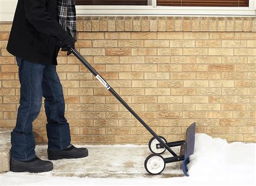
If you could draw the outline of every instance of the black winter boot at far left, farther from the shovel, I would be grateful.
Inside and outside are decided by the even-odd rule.
[[[36,157],[28,161],[11,160],[10,167],[13,172],[43,173],[52,170],[53,164]]]

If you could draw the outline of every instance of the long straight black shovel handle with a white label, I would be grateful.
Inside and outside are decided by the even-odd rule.
[[[72,53],[80,60],[80,62],[83,63],[83,65],[90,70],[90,72],[100,81],[100,83],[102,83],[104,85],[104,87],[109,90],[112,95],[114,97],[116,97],[118,99],[118,101],[120,103],[122,103],[122,105],[125,106],[125,108],[153,135],[154,138],[156,138],[158,140],[158,142],[163,145],[167,151],[169,151],[173,156],[177,156],[176,153],[174,153],[172,151],[172,149],[163,141],[161,140],[161,138],[158,137],[158,135],[149,127],[149,125],[147,125],[145,123],[144,120],[142,120],[142,118],[140,118],[136,112],[134,112],[129,105],[127,105],[127,103],[117,94],[116,91],[114,91],[114,89],[112,89],[112,87],[110,87],[109,84],[107,84],[107,82],[104,80],[104,78],[102,78],[97,71],[90,65],[89,62],[87,62],[84,57],[75,49],[75,48],[71,48]]]

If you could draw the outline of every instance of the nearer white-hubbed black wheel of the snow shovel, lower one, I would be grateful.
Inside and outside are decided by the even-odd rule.
[[[147,156],[144,167],[149,174],[160,174],[165,168],[163,156],[159,154],[151,154]]]

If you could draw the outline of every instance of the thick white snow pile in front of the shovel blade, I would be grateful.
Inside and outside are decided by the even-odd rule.
[[[196,134],[194,154],[190,156],[187,166],[188,173],[191,178],[255,184],[255,147],[255,144],[228,144],[224,139]]]

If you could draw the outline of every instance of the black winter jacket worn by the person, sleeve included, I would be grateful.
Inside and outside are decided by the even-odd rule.
[[[18,0],[7,50],[24,60],[57,65],[57,41],[68,37],[57,20],[57,0]]]

